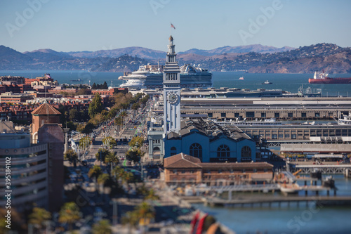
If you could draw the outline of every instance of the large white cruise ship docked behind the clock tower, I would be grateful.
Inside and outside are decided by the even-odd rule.
[[[126,82],[121,88],[129,89],[162,89],[163,72],[160,69],[150,70],[150,65],[140,66],[139,69],[122,79]],[[155,66],[156,67],[156,66]],[[212,73],[201,67],[185,64],[180,67],[180,87],[182,88],[209,88],[212,87]]]

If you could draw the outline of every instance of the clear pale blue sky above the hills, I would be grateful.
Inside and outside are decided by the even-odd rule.
[[[346,47],[350,9],[348,0],[1,0],[0,44],[20,52],[166,51],[172,22],[176,51],[320,42]]]

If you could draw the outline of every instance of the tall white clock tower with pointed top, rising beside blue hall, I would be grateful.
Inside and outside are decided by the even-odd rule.
[[[173,37],[169,37],[164,66],[164,134],[180,131],[180,70]]]

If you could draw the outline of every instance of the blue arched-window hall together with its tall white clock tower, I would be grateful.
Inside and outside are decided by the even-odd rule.
[[[150,157],[171,157],[183,152],[201,162],[256,161],[255,141],[236,126],[180,118],[180,69],[172,36],[168,41],[163,84],[164,127],[149,131]]]

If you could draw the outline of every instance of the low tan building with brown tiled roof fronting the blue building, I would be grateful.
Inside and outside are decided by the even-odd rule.
[[[180,153],[164,159],[164,178],[167,184],[230,186],[270,181],[273,177],[272,168],[273,165],[267,162],[204,163],[197,157]]]

